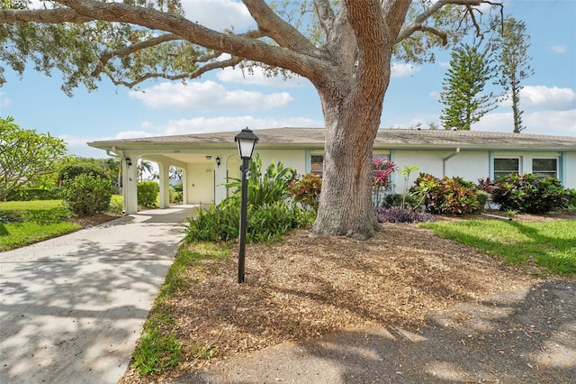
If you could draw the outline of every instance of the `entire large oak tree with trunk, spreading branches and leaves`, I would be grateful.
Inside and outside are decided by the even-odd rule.
[[[434,60],[435,46],[482,32],[487,0],[243,0],[251,28],[214,31],[176,0],[57,0],[28,9],[3,0],[0,59],[23,73],[28,62],[59,69],[63,89],[97,86],[103,76],[137,87],[150,78],[198,78],[211,69],[260,66],[298,74],[316,87],[325,119],[323,190],[312,230],[366,239],[372,207],[372,149],[392,57]],[[481,7],[481,5],[484,5]],[[4,78],[0,78],[0,81]]]

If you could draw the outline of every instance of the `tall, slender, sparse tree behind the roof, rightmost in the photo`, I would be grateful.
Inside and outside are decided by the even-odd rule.
[[[528,56],[530,36],[526,31],[526,24],[513,17],[507,17],[502,26],[502,35],[496,40],[499,49],[498,72],[500,77],[497,85],[504,87],[504,100],[512,99],[512,112],[514,114],[514,133],[521,133],[526,129],[522,123],[520,110],[520,91],[522,80],[534,75],[534,69],[529,65],[532,59]]]

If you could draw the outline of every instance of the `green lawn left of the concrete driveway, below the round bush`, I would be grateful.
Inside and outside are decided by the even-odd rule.
[[[0,203],[0,251],[9,251],[80,229],[61,200]]]

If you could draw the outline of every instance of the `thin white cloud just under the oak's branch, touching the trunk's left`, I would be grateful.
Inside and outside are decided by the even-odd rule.
[[[298,75],[292,75],[292,78],[284,80],[282,75],[272,78],[266,77],[264,70],[261,68],[253,69],[253,73],[248,73],[247,69],[223,69],[216,73],[216,77],[224,83],[238,83],[253,86],[267,87],[300,87],[311,86],[310,80]]]

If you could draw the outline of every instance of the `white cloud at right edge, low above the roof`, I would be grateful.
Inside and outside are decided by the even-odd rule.
[[[522,108],[539,108],[562,111],[574,108],[576,92],[571,88],[527,86],[520,91],[520,103]],[[511,105],[506,100],[501,105]]]

